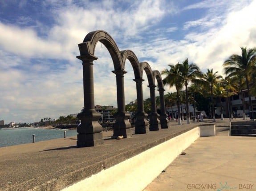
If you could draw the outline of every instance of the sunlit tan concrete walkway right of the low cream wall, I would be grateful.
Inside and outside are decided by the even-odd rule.
[[[199,137],[144,191],[256,191],[256,137],[223,130]]]

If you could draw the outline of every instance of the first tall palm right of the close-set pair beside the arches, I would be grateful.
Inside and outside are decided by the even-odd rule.
[[[211,113],[212,113],[212,117],[213,117],[213,121],[215,122],[215,109],[214,109],[214,102],[213,102],[213,85],[215,85],[221,78],[221,75],[217,75],[218,71],[213,73],[212,69],[209,70],[207,69],[207,72],[205,74],[203,74],[203,86],[204,88],[210,89],[211,92]]]

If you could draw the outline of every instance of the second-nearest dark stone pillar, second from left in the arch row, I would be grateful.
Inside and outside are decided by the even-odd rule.
[[[118,112],[113,116],[116,122],[113,126],[114,132],[112,139],[116,139],[118,136],[127,138],[131,136],[131,124],[128,120],[130,118],[130,114],[126,114],[125,111],[124,74],[127,72],[125,70],[114,70],[112,72],[116,74],[118,101]]]

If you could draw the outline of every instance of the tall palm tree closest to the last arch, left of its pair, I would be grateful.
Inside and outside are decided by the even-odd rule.
[[[163,78],[163,84],[168,85],[170,88],[175,86],[177,94],[177,108],[178,108],[178,124],[181,125],[180,119],[180,103],[179,103],[179,91],[182,89],[184,84],[184,79],[182,78],[182,73],[179,69],[179,62],[176,65],[168,64],[170,69],[165,69],[161,72],[162,75],[166,77]]]

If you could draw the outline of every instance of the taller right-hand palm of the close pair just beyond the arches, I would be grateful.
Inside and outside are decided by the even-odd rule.
[[[193,82],[196,78],[202,78],[202,72],[200,71],[199,67],[195,63],[188,63],[188,58],[179,64],[182,76],[184,78],[185,84],[185,92],[186,92],[186,115],[187,115],[187,124],[190,124],[189,119],[189,107],[188,107],[188,93],[187,87],[189,82]]]

